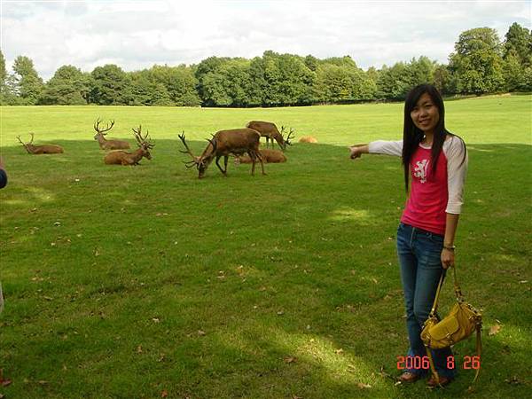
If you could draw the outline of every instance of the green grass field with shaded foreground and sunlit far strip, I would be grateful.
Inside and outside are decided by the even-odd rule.
[[[400,160],[352,161],[346,148],[399,139],[401,104],[0,108],[0,368],[12,379],[0,395],[530,397],[531,99],[446,103],[469,150],[458,278],[483,311],[484,348],[473,388],[462,370],[472,338],[455,347],[458,379],[435,392],[393,379],[407,348]],[[104,165],[98,117],[132,144],[142,123],[153,160]],[[268,176],[231,163],[224,178],[213,164],[199,180],[184,168],[178,133],[200,153],[210,133],[252,119],[319,144],[294,144]],[[28,155],[15,137],[29,132],[65,153]],[[448,281],[442,313],[451,291]]]

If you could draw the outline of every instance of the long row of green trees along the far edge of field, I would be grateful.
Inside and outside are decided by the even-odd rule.
[[[349,56],[317,59],[265,51],[254,59],[209,57],[191,66],[125,72],[97,66],[90,73],[60,66],[48,82],[33,61],[6,71],[0,51],[1,105],[306,106],[402,100],[412,86],[432,82],[443,95],[532,91],[532,31],[513,23],[501,42],[495,29],[458,37],[447,65],[420,56],[394,66],[356,66]]]

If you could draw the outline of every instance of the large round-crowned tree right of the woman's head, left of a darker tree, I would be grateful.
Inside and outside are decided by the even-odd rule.
[[[476,27],[460,34],[450,54],[450,70],[457,90],[482,94],[502,90],[505,85],[501,44],[495,29]]]

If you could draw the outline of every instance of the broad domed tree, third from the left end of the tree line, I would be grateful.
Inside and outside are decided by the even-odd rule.
[[[41,103],[44,105],[82,106],[87,104],[90,75],[75,66],[61,66],[46,83]]]

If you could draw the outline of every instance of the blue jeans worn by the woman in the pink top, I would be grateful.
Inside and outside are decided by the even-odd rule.
[[[420,333],[432,309],[440,277],[445,276],[441,254],[443,236],[399,224],[397,229],[397,254],[401,266],[406,327],[410,348],[407,356],[426,356]],[[454,369],[447,368],[447,357],[452,356],[450,348],[432,351],[434,367],[441,377],[454,378]],[[452,362],[454,364],[454,362]],[[429,370],[407,369],[414,374],[425,374]]]

